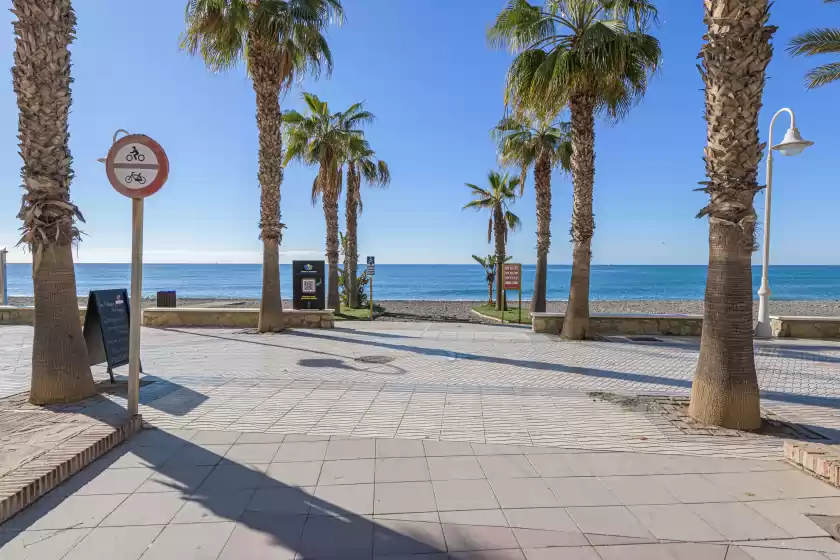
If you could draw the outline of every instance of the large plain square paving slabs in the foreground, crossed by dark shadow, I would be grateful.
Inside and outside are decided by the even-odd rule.
[[[3,560],[836,560],[780,461],[147,430],[0,525]]]

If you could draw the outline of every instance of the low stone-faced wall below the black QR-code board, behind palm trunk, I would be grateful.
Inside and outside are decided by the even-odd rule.
[[[150,307],[143,310],[148,327],[228,327],[257,328],[259,309],[204,307]],[[283,321],[290,328],[331,329],[332,310],[283,310]]]

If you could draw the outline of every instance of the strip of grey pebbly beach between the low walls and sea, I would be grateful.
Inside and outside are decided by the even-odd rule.
[[[10,305],[29,306],[31,297],[10,297]],[[386,309],[384,318],[389,321],[452,321],[482,322],[470,313],[470,309],[480,301],[417,301],[417,300],[380,300],[377,302]],[[79,298],[79,305],[85,306],[87,298]],[[143,307],[154,307],[154,299],[143,301]],[[523,306],[527,302],[523,302]],[[180,307],[259,307],[258,299],[178,299]],[[283,306],[291,308],[291,300],[283,300]],[[592,313],[703,313],[702,300],[617,300],[592,301]],[[548,311],[563,312],[565,301],[548,303]],[[773,315],[800,316],[840,316],[840,301],[772,301],[770,311]],[[758,312],[758,302],[754,305],[754,314]]]

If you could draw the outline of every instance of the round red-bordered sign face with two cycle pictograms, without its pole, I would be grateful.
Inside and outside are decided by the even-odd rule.
[[[148,136],[130,134],[108,150],[105,170],[118,193],[146,198],[158,192],[169,177],[169,158],[160,144]]]

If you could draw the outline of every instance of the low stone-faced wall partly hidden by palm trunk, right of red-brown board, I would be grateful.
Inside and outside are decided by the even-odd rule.
[[[531,313],[532,329],[537,333],[560,334],[564,313]],[[700,336],[702,315],[648,315],[594,313],[589,318],[592,334],[662,334]]]

